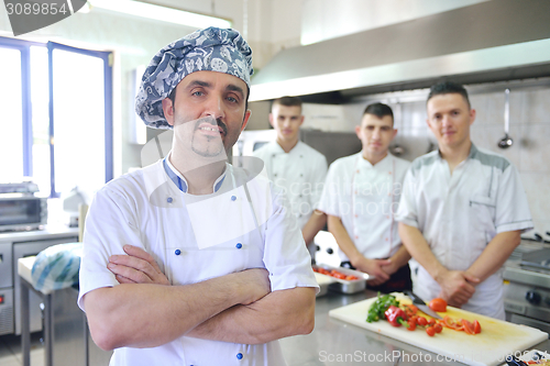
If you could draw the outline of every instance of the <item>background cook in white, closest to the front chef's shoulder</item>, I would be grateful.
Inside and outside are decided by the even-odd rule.
[[[265,144],[253,155],[265,163],[270,179],[286,192],[298,228],[314,253],[314,237],[327,223],[327,215],[316,210],[327,177],[327,158],[299,141],[304,115],[298,97],[275,99],[270,123],[277,132],[276,141]]]

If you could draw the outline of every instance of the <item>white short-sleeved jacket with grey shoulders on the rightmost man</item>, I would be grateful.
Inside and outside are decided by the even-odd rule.
[[[451,270],[468,269],[496,234],[532,229],[517,169],[504,156],[473,144],[452,175],[439,151],[415,159],[397,220],[420,230],[438,260]],[[440,292],[421,266],[414,289],[424,299]],[[501,269],[476,285],[462,309],[504,319],[503,290]]]

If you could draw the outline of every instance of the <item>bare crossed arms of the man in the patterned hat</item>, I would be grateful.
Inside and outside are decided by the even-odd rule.
[[[169,286],[151,255],[130,245],[124,252],[108,266],[121,285],[84,298],[91,335],[103,350],[154,347],[182,335],[257,344],[314,329],[314,288],[271,292],[265,269]]]

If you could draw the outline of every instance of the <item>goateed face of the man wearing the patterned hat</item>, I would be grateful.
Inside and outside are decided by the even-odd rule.
[[[174,103],[164,99],[163,110],[177,144],[204,157],[229,152],[250,118],[246,84],[224,73],[197,71],[176,88]]]

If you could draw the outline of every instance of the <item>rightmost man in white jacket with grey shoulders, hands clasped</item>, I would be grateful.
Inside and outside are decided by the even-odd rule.
[[[502,266],[532,228],[519,174],[504,156],[472,144],[475,110],[464,87],[435,85],[427,111],[439,149],[413,163],[397,214],[420,264],[415,292],[504,319]]]

